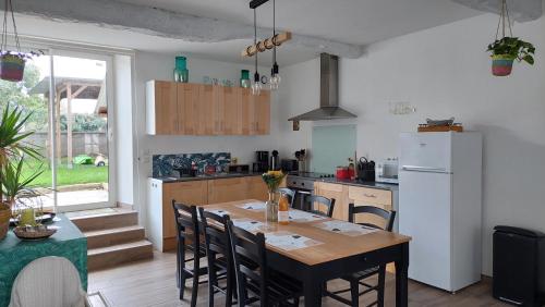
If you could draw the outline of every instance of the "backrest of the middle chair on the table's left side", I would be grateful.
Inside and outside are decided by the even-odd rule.
[[[214,212],[208,212],[204,208],[198,208],[201,216],[202,231],[205,237],[206,257],[208,259],[208,270],[216,270],[213,266],[218,256],[223,256],[226,259],[231,259],[231,241],[227,231],[227,221],[229,216],[218,216]],[[214,223],[215,225],[211,225]],[[230,266],[228,266],[228,269]],[[210,271],[216,277],[215,271]]]

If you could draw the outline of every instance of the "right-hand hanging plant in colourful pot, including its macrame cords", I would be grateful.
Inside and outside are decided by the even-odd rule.
[[[502,37],[498,39],[500,28]],[[507,28],[510,36],[506,36]],[[496,30],[496,39],[493,44],[488,45],[487,51],[492,53],[492,74],[495,76],[510,75],[514,60],[519,62],[524,61],[531,65],[534,64],[533,54],[535,53],[535,47],[512,35],[511,20],[506,0],[501,0],[501,13]]]

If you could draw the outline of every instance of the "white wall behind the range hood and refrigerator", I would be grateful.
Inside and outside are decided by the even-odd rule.
[[[282,128],[282,149],[311,145],[313,124],[358,124],[358,152],[397,156],[400,132],[426,118],[456,116],[484,134],[483,270],[492,274],[492,232],[497,224],[545,231],[545,17],[517,24],[514,34],[537,48],[536,64],[516,64],[510,77],[491,75],[484,51],[496,15],[482,15],[368,47],[364,57],[340,61],[340,103],[355,120],[301,123]],[[282,67],[279,115],[318,106],[319,61]],[[392,115],[389,102],[409,101],[416,113]],[[280,119],[281,120],[281,119]]]

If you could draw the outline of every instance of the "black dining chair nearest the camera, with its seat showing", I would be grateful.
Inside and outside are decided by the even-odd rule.
[[[227,229],[234,260],[239,307],[257,300],[262,307],[299,306],[303,286],[298,280],[267,266],[265,235],[235,228],[232,221],[227,222]]]

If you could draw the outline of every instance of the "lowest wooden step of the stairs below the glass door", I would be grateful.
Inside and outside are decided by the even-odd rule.
[[[107,247],[89,248],[87,250],[87,269],[93,271],[153,257],[153,245],[146,240]]]

